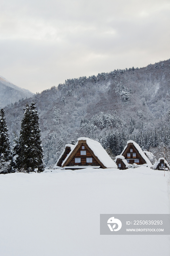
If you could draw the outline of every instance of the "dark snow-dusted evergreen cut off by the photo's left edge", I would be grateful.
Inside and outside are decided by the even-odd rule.
[[[0,173],[11,172],[11,149],[9,144],[8,127],[5,118],[5,111],[0,110]]]

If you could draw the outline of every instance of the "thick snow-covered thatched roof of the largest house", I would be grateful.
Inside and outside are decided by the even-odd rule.
[[[62,163],[62,166],[66,162],[66,160],[69,158],[69,156],[72,154],[74,149],[77,147],[78,141],[80,141],[80,140],[86,140],[86,144],[88,145],[88,147],[93,151],[94,155],[98,158],[98,160],[101,163],[103,163],[103,165],[106,168],[117,168],[116,163],[111,159],[111,157],[109,157],[108,153],[101,146],[100,142],[97,142],[96,140],[92,140],[92,139],[89,139],[86,137],[78,138],[76,145],[72,148],[70,153],[67,155],[67,157],[65,158],[65,160]]]

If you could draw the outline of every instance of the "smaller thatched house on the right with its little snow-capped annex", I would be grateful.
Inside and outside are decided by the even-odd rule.
[[[120,156],[124,157],[124,159],[120,158]],[[127,163],[131,165],[135,163],[136,165],[146,164],[149,167],[152,166],[146,154],[143,153],[140,146],[133,140],[128,140],[127,145],[124,147],[124,150],[122,151],[120,156],[116,157],[116,164],[121,170],[128,168],[128,165],[126,164],[125,166],[123,160],[126,160]]]

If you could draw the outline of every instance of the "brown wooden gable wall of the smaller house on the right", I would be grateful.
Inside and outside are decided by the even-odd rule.
[[[132,151],[132,152],[131,152]],[[133,153],[136,153],[133,155]],[[129,155],[130,154],[130,155]],[[128,143],[127,148],[122,154],[124,158],[132,165],[133,163],[136,163],[137,165],[143,165],[146,163],[146,161],[143,159],[143,157],[139,154],[138,150],[134,146],[133,143]],[[136,160],[135,160],[136,159]],[[138,162],[139,159],[139,162]]]

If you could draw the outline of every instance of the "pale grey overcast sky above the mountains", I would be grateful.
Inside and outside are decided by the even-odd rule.
[[[170,0],[1,0],[0,76],[33,93],[170,58]]]

